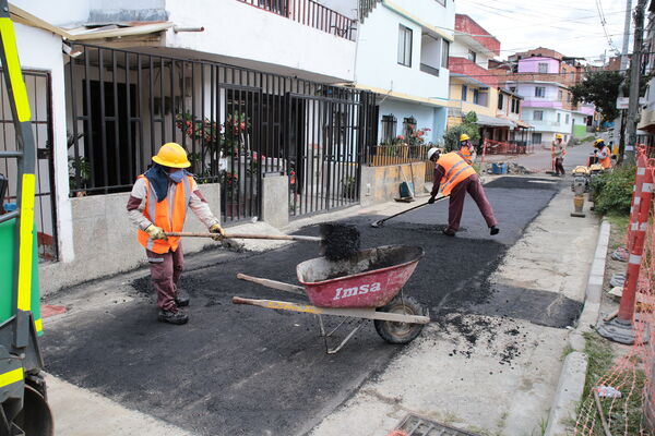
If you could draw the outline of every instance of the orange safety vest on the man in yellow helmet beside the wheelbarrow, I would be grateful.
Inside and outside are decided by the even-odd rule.
[[[145,180],[145,209],[143,216],[150,219],[155,226],[160,227],[165,232],[180,232],[184,228],[184,218],[187,218],[187,208],[191,199],[191,186],[193,178],[188,175],[177,184],[175,191],[169,193],[162,202],[157,202],[150,181],[143,174],[139,179]],[[172,195],[171,195],[172,194]],[[136,232],[139,243],[151,252],[158,254],[176,251],[180,244],[179,237],[168,237],[168,240],[153,240],[150,235],[139,229]]]

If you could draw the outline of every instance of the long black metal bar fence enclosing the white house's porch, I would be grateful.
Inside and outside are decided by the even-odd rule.
[[[261,215],[265,172],[299,181],[294,216],[357,202],[370,93],[210,61],[74,49],[72,195],[129,191],[158,147],[177,142],[199,183],[222,183],[223,221]]]

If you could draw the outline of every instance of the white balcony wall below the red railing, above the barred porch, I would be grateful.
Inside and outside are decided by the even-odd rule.
[[[354,77],[355,41],[236,0],[166,2],[169,20],[204,32],[166,34],[166,46],[277,64],[335,81]]]

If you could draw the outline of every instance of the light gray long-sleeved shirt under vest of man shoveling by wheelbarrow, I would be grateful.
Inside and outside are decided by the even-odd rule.
[[[172,191],[177,189],[177,184],[168,182],[168,198],[172,198]],[[130,193],[130,199],[128,199],[128,216],[130,221],[141,230],[145,230],[153,222],[143,215],[145,209],[145,196],[147,193],[147,186],[144,178],[136,179],[132,192]],[[191,185],[191,198],[189,199],[189,208],[193,210],[193,214],[200,219],[200,221],[207,227],[207,229],[214,225],[221,223],[218,218],[212,214],[207,201],[202,196],[202,193],[198,189],[195,180]]]

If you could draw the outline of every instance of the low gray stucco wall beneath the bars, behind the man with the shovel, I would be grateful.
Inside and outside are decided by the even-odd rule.
[[[201,191],[215,214],[221,210],[221,185],[203,184]],[[146,263],[144,249],[136,242],[136,230],[128,219],[129,193],[72,198],[75,261],[44,264],[39,267],[41,295],[103,276],[136,268]],[[206,231],[189,211],[184,231]],[[184,253],[212,245],[212,240],[189,238]]]

